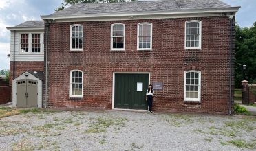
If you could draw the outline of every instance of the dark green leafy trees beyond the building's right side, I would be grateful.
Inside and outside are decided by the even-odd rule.
[[[246,65],[246,80],[256,83],[256,22],[252,27],[235,25],[235,87],[244,80],[243,65]]]

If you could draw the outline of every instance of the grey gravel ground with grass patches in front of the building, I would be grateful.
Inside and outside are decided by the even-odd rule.
[[[133,111],[0,119],[0,150],[255,150],[256,118]]]

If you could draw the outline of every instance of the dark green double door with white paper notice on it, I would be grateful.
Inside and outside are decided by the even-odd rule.
[[[148,74],[115,74],[114,108],[147,110]]]

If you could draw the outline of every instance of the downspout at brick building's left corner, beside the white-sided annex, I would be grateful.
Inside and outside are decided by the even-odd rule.
[[[48,27],[49,23],[47,20],[46,25],[46,54],[45,54],[45,108],[47,108],[47,77],[48,77]]]

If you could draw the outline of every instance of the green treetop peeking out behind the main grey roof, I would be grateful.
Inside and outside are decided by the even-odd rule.
[[[75,5],[76,3],[118,3],[118,2],[130,2],[137,0],[63,0],[61,7],[55,8],[56,12],[63,10],[65,7]]]

